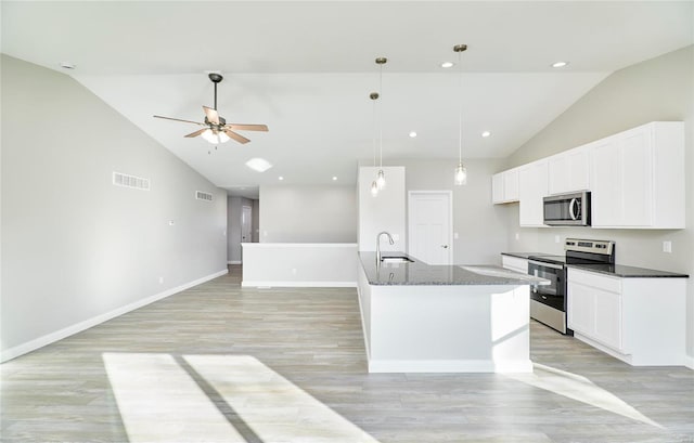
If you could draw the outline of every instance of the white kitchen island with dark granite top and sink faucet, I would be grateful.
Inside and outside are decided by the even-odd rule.
[[[389,252],[388,257],[407,257]],[[376,263],[359,252],[359,307],[370,373],[528,373],[529,286],[499,266]]]

